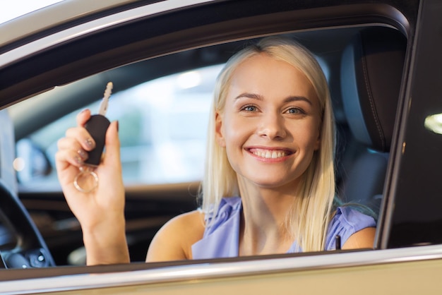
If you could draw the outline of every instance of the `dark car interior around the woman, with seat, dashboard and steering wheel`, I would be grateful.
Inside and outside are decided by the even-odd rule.
[[[399,30],[380,25],[301,30],[283,35],[295,38],[310,49],[328,78],[338,132],[338,195],[342,202],[365,205],[376,218],[381,218],[407,37]],[[1,110],[0,253],[3,266],[69,265],[73,264],[73,254],[80,257],[78,265],[84,261],[80,228],[61,192],[56,188],[27,188],[18,182],[13,170],[18,140],[100,100],[107,81],[114,83],[114,92],[122,92],[172,73],[223,64],[244,44],[253,41],[240,39],[181,50],[107,71],[97,68],[93,75],[88,69],[78,74],[81,79],[71,78],[72,82],[64,85],[66,91],[49,90]],[[26,116],[20,115],[20,109],[28,110]],[[148,244],[162,224],[175,215],[196,209],[198,184],[198,181],[138,183],[126,187],[127,234],[133,262],[144,261]]]

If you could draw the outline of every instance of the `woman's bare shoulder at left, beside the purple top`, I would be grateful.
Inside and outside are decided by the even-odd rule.
[[[192,258],[191,246],[203,239],[204,215],[195,210],[169,220],[155,235],[146,262]]]

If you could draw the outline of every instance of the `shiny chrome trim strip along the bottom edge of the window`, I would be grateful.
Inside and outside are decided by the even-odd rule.
[[[0,293],[34,294],[49,291],[183,282],[192,279],[265,275],[278,272],[330,270],[340,267],[381,265],[386,263],[404,263],[434,259],[442,259],[442,245],[417,246],[377,251],[344,252],[292,258],[273,258],[266,260],[257,259],[229,263],[178,265],[160,267],[151,270],[135,270],[131,272],[21,279],[0,282]]]

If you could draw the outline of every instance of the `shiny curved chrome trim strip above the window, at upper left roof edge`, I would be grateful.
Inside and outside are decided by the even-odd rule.
[[[104,18],[92,20],[88,23],[83,23],[60,32],[56,32],[53,35],[43,37],[39,40],[24,44],[23,46],[12,49],[11,51],[1,54],[0,68],[8,66],[15,61],[24,59],[27,56],[40,52],[44,49],[54,47],[62,44],[68,40],[72,40],[77,37],[88,35],[91,32],[97,32],[104,28],[109,28],[114,25],[127,22],[129,20],[136,20],[137,18],[143,18],[145,16],[153,16],[165,11],[172,11],[186,6],[193,6],[197,4],[205,4],[215,0],[166,0],[156,2],[154,4],[148,4],[137,8],[130,9],[128,11],[122,11],[115,13]]]

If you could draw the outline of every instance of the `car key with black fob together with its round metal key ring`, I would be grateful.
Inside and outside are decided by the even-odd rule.
[[[98,186],[98,176],[94,169],[100,164],[106,131],[110,125],[110,121],[105,115],[112,87],[112,82],[107,83],[98,114],[91,116],[85,124],[86,130],[95,140],[95,148],[89,152],[89,157],[84,162],[85,165],[80,167],[80,172],[78,172],[76,178],[73,179],[73,186],[81,193],[90,193]]]

